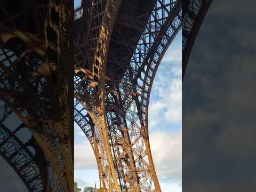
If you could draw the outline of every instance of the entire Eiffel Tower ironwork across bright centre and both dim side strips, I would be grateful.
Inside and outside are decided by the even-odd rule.
[[[183,79],[211,2],[83,0],[74,11],[71,0],[1,1],[0,154],[28,191],[74,190],[74,121],[102,191],[161,191],[151,86],[181,27]]]

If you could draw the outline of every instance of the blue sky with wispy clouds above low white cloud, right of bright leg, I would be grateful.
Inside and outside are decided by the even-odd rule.
[[[182,82],[181,82],[181,33],[178,34],[156,73],[149,102],[149,129],[181,124]],[[161,130],[161,129],[159,129]]]

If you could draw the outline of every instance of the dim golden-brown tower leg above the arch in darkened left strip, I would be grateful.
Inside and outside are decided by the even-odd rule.
[[[74,186],[66,79],[71,2],[0,3],[0,97],[29,128],[63,191]]]

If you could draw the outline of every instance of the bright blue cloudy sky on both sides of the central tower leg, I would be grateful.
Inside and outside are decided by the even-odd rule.
[[[150,147],[163,192],[181,192],[181,42],[180,31],[158,68],[149,102]],[[76,124],[75,181],[80,188],[99,183],[93,150]]]

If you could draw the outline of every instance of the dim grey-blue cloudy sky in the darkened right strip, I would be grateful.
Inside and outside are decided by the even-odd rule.
[[[255,6],[213,0],[199,29],[182,85],[185,191],[255,190]]]

